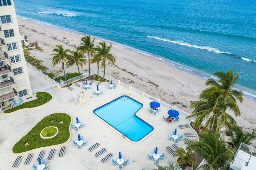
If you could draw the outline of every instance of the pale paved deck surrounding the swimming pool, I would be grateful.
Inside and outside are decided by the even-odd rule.
[[[36,72],[28,68],[30,76],[35,76]],[[42,80],[41,80],[42,79]],[[44,88],[42,86],[42,81],[46,81],[42,76],[38,76],[36,81],[31,81],[33,89],[38,87]],[[39,83],[40,82],[40,83]],[[39,83],[36,85],[36,83]],[[80,82],[80,85],[82,83]],[[45,154],[43,158],[46,158],[46,165],[50,164],[51,169],[90,169],[90,170],[116,170],[117,165],[112,164],[111,159],[116,160],[118,158],[118,152],[122,152],[123,158],[126,160],[129,158],[128,165],[124,165],[124,169],[130,170],[152,170],[157,168],[154,164],[154,160],[148,160],[148,154],[153,154],[154,147],[158,147],[158,153],[165,153],[164,159],[160,159],[160,165],[164,166],[168,164],[168,160],[175,160],[176,157],[172,157],[167,151],[166,147],[174,144],[174,141],[168,140],[168,135],[172,135],[172,131],[177,128],[177,135],[183,135],[184,133],[193,132],[190,128],[179,129],[178,125],[188,124],[189,120],[185,119],[184,116],[180,115],[180,119],[177,122],[168,124],[163,121],[162,115],[168,116],[166,107],[160,106],[160,111],[156,116],[149,113],[149,103],[151,100],[147,98],[142,98],[142,96],[123,88],[122,86],[117,86],[116,89],[110,90],[106,87],[106,84],[102,83],[99,88],[100,91],[104,90],[103,94],[96,96],[92,94],[92,91],[96,91],[96,82],[92,84],[92,89],[88,92],[92,95],[92,98],[86,103],[80,105],[78,102],[73,101],[72,94],[75,94],[81,90],[81,87],[77,87],[75,84],[72,85],[73,91],[68,88],[56,88],[48,91],[53,96],[53,100],[44,107],[38,109],[19,111],[10,115],[0,115],[0,160],[1,170],[12,169],[12,164],[16,160],[17,156],[11,154],[12,147],[17,143],[24,135],[26,135],[41,119],[50,115],[52,113],[67,113],[72,117],[72,123],[75,123],[76,117],[81,120],[81,123],[85,122],[84,128],[80,128],[79,132],[75,132],[71,129],[71,139],[68,144],[66,144],[66,151],[63,157],[59,157],[60,147],[56,148],[56,152],[52,160],[47,160],[50,149],[44,148]],[[137,113],[138,117],[142,118],[144,121],[148,122],[155,129],[149,137],[144,139],[140,143],[130,143],[128,140],[124,139],[122,135],[114,131],[106,123],[98,119],[92,111],[99,106],[106,104],[122,95],[128,95],[134,100],[142,103],[144,105],[143,109]],[[24,101],[25,102],[25,101]],[[77,150],[72,141],[77,141],[77,136],[80,134],[85,140],[88,140],[88,144],[82,147],[82,150]],[[184,138],[184,137],[183,137]],[[188,139],[197,139],[197,137],[187,137]],[[100,147],[88,151],[88,148],[95,143],[100,143]],[[183,147],[185,149],[183,139],[179,141],[178,147]],[[94,154],[106,148],[107,151],[96,158]],[[172,147],[171,147],[172,148]],[[38,165],[36,159],[39,155],[40,150],[33,152],[34,156],[30,161],[29,166],[24,166],[24,162],[28,154],[24,154],[23,158],[18,166],[18,170],[32,169],[32,165]],[[114,156],[103,164],[100,160],[104,158],[108,153],[114,154]],[[4,160],[4,161],[3,161]]]

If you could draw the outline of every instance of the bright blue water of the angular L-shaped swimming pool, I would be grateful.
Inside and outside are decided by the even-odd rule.
[[[131,141],[138,142],[154,129],[135,115],[142,106],[143,104],[128,96],[121,96],[94,109],[93,113]]]

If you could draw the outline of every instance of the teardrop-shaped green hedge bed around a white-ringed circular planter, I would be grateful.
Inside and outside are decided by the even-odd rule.
[[[51,121],[54,120],[54,121]],[[58,123],[63,121],[63,123]],[[39,123],[36,124],[33,129],[31,129],[28,134],[26,134],[20,141],[18,141],[12,151],[14,153],[21,153],[28,150],[40,148],[40,147],[48,147],[51,145],[58,145],[68,141],[69,139],[69,125],[71,123],[70,115],[66,113],[54,113],[44,117]],[[40,137],[41,131],[45,127],[54,126],[59,129],[59,133],[50,139],[42,139]],[[46,128],[48,129],[48,128]],[[54,128],[55,129],[55,128]],[[55,133],[54,133],[55,134]]]

